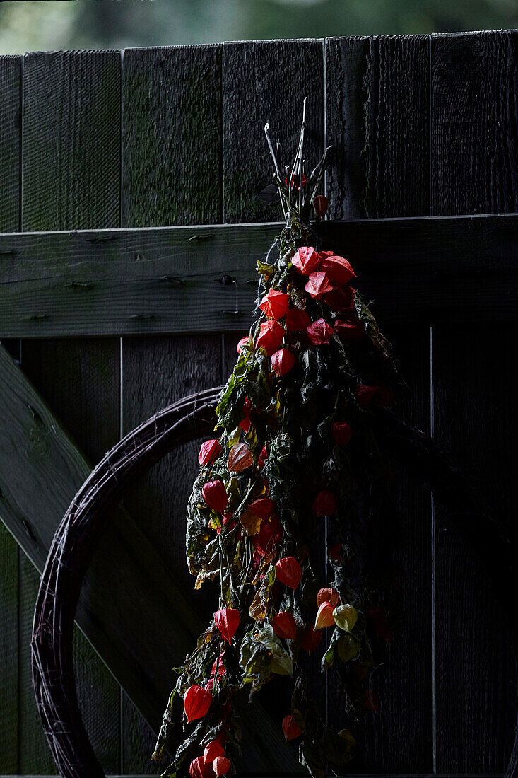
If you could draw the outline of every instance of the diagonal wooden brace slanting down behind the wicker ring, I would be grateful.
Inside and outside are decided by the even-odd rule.
[[[54,532],[91,468],[2,346],[0,376],[0,519],[41,572]],[[122,508],[113,511],[93,555],[76,621],[157,731],[175,681],[171,668],[207,625]],[[280,727],[257,701],[243,708],[243,738],[260,771],[299,771]]]

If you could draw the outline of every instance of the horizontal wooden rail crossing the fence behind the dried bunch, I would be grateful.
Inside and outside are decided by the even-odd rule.
[[[0,338],[244,331],[280,224],[0,235]],[[518,216],[325,222],[382,325],[516,319]]]

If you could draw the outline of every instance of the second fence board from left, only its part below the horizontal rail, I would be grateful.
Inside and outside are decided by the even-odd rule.
[[[119,438],[119,342],[23,341],[22,369],[89,461]],[[74,635],[79,705],[104,769],[120,768],[118,685],[79,629]]]

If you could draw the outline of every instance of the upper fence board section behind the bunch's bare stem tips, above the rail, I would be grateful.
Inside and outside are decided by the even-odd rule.
[[[322,40],[224,44],[224,222],[282,218],[278,198],[265,203],[258,197],[271,184],[273,173],[264,124],[270,123],[273,142],[281,143],[282,166],[292,163],[307,97],[305,149],[307,166],[312,168],[323,151],[323,83]]]

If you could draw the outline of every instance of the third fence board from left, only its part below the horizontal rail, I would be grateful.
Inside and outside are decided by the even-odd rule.
[[[221,382],[220,335],[124,338],[122,359],[124,433],[170,402]],[[185,559],[186,507],[192,483],[198,475],[198,449],[198,442],[188,443],[165,457],[151,472],[135,481],[124,498],[124,505],[167,569],[174,570],[177,585],[197,614],[198,623],[204,625],[201,629],[205,629],[217,609],[219,590],[215,584],[208,584],[203,591],[194,592],[194,579]],[[195,642],[193,640],[189,650],[194,648]],[[155,650],[163,652],[167,664],[173,666],[170,644],[166,640],[161,640]],[[181,658],[183,661],[184,657]],[[157,703],[165,709],[170,688],[164,685],[160,692]],[[125,698],[124,769],[156,774],[156,763],[149,761],[154,735],[140,719]]]

